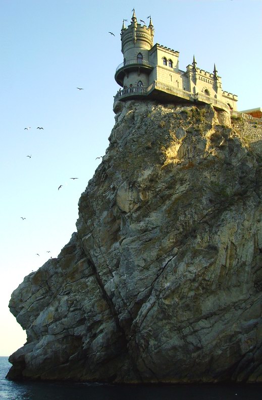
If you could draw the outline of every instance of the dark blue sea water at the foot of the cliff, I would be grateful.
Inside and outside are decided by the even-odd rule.
[[[261,400],[262,385],[100,385],[18,383],[6,379],[11,367],[0,357],[0,399],[5,400]]]

